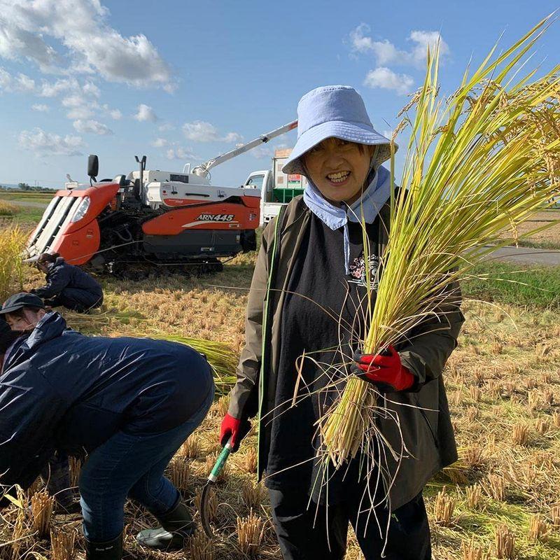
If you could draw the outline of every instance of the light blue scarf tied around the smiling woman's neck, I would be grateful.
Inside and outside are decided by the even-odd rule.
[[[373,178],[362,196],[351,206],[346,206],[346,204],[339,207],[333,206],[308,180],[308,185],[303,193],[303,201],[307,208],[331,230],[338,230],[344,226],[344,269],[346,274],[350,274],[348,222],[361,223],[363,217],[365,223],[373,223],[389,197],[391,197],[391,173],[381,166],[374,172]]]

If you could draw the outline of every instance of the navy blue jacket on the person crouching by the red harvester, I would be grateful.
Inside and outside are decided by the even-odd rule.
[[[59,257],[48,267],[45,286],[35,288],[33,293],[43,297],[44,300],[55,297],[62,290],[70,290],[67,295],[71,295],[73,300],[85,307],[100,305],[103,301],[103,290],[99,282],[80,267],[69,265],[62,257]]]

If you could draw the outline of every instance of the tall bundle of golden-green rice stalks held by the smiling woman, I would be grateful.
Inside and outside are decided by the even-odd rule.
[[[559,193],[557,69],[535,78],[534,71],[523,74],[522,64],[547,25],[549,18],[500,55],[493,48],[445,100],[439,97],[438,52],[428,52],[423,86],[395,130],[409,126],[411,137],[401,188],[391,193],[386,252],[377,272],[366,265],[369,331],[360,351],[379,353],[404,342],[428,320],[434,330],[445,325],[458,304],[457,281],[493,251],[488,245],[503,244],[504,230],[516,230]],[[394,176],[393,141],[391,151]],[[369,263],[367,244],[364,227]],[[349,376],[319,422],[335,468],[360,447],[369,454],[379,437],[376,395],[372,384]]]

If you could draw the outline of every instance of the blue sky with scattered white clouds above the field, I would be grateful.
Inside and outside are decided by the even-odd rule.
[[[180,170],[296,117],[318,85],[349,84],[374,125],[391,130],[423,76],[438,34],[442,87],[498,36],[515,41],[558,8],[549,0],[264,2],[0,0],[0,183],[85,180],[88,153],[100,175]],[[535,64],[558,59],[560,22]],[[212,172],[238,185],[267,169],[292,132]]]

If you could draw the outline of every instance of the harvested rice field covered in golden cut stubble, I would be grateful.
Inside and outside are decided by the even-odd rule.
[[[254,253],[241,255],[216,276],[160,276],[131,282],[104,279],[106,302],[92,316],[68,313],[74,328],[100,335],[181,335],[226,342],[239,352]],[[537,274],[537,273],[535,273]],[[25,288],[40,281],[27,270]],[[476,286],[467,321],[444,372],[459,461],[437,475],[425,498],[434,558],[556,560],[560,556],[560,306],[485,303]],[[234,372],[232,372],[234,373]],[[217,398],[202,426],[183,445],[169,477],[197,514],[200,489],[220,449],[218,431],[228,405]],[[141,549],[134,535],[153,519],[132,503],[125,547],[131,558],[194,560],[279,559],[265,489],[255,482],[256,436],[231,456],[211,496],[218,538],[201,531],[183,553]],[[73,477],[79,465],[73,464]],[[0,558],[83,559],[80,515],[49,515],[36,483],[22,507],[1,512]],[[41,506],[42,504],[42,506]],[[31,508],[29,508],[31,505]],[[44,506],[46,510],[44,509]],[[43,509],[41,509],[41,507]],[[43,512],[41,514],[41,512]],[[360,558],[351,536],[347,559]]]

